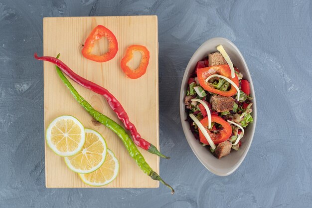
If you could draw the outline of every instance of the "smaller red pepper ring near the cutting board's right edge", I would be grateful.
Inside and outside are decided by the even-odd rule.
[[[132,59],[134,51],[141,52],[142,58],[138,68],[131,69],[127,66],[127,63]],[[130,45],[127,48],[126,55],[121,60],[121,68],[126,73],[126,75],[131,79],[137,79],[143,76],[149,65],[150,51],[143,45]]]

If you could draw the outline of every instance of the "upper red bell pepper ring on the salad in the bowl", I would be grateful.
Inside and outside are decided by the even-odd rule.
[[[221,91],[221,90],[215,89],[211,83],[206,82],[206,79],[212,74],[219,74],[219,75],[225,76],[231,79],[238,86],[238,77],[236,74],[234,78],[231,77],[231,69],[229,65],[223,64],[223,65],[218,65],[218,66],[209,66],[205,68],[200,68],[197,70],[197,78],[198,78],[200,86],[202,86],[205,90],[209,92],[213,92],[218,95],[223,95],[227,97],[235,95],[237,93],[234,86],[231,86],[231,89],[229,91]]]

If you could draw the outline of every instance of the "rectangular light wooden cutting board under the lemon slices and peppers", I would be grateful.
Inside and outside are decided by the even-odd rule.
[[[116,56],[104,63],[88,60],[81,54],[85,39],[98,24],[106,26],[115,34],[119,46]],[[94,49],[97,54],[107,51],[107,40],[102,39]],[[127,78],[120,68],[126,48],[132,44],[145,45],[150,51],[147,72],[139,79]],[[60,53],[60,60],[73,71],[108,89],[121,102],[141,136],[159,148],[157,16],[46,17],[43,19],[43,53],[45,56],[56,56]],[[140,55],[135,54],[131,66],[138,65],[140,58]],[[70,81],[95,109],[122,125],[102,96]],[[119,137],[105,126],[94,122],[75,101],[58,77],[55,66],[44,62],[45,128],[61,115],[75,116],[86,128],[100,132],[106,139],[108,148],[118,158],[119,175],[115,181],[103,188],[159,186],[157,181],[141,171]],[[159,158],[141,148],[139,150],[150,166],[159,173]],[[63,158],[55,155],[47,145],[45,145],[45,185],[47,188],[90,187],[82,183],[78,175],[67,168]]]

